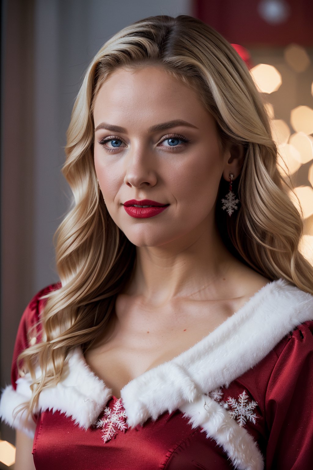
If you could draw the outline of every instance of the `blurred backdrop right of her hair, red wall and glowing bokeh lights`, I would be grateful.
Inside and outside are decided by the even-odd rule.
[[[305,222],[302,251],[313,262],[313,2],[195,0],[193,16],[219,31],[251,70],[271,116],[282,173]]]

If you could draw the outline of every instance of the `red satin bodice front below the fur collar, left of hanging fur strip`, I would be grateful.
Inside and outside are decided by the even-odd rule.
[[[112,407],[116,399],[107,406]],[[101,429],[87,431],[59,412],[38,421],[33,447],[37,470],[191,470],[232,467],[227,455],[200,428],[192,429],[180,412],[165,413],[141,427],[119,431],[104,443]]]

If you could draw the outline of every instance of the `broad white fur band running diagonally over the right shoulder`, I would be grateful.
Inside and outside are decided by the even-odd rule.
[[[307,320],[313,320],[312,295],[282,279],[268,283],[196,345],[123,387],[129,425],[228,387]]]

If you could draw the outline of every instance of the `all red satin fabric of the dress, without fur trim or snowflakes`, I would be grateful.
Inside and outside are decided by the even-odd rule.
[[[44,302],[38,298],[53,288],[39,292],[23,314],[12,364],[14,388],[16,357],[27,347],[32,336],[29,331]],[[265,470],[312,469],[313,321],[299,325],[221,392],[224,402],[236,401],[243,393],[248,403],[257,402],[254,418],[247,417],[244,428],[264,456]],[[115,400],[107,406],[113,407]],[[106,443],[101,429],[92,426],[85,431],[64,414],[44,411],[38,416],[33,454],[37,470],[234,468],[223,448],[200,428],[192,429],[178,410],[120,431]]]

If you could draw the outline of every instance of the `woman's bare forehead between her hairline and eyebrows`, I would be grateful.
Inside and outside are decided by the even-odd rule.
[[[214,121],[197,92],[160,66],[112,72],[99,88],[93,117],[95,126],[101,121],[122,125],[121,120],[146,127],[175,119],[194,125]]]

